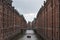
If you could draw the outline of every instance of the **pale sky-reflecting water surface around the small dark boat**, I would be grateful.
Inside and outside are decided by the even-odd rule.
[[[28,38],[27,36],[31,36],[31,38]],[[36,34],[34,33],[33,30],[26,30],[25,35],[18,38],[17,40],[38,40],[38,38],[37,38],[37,36],[36,36]]]

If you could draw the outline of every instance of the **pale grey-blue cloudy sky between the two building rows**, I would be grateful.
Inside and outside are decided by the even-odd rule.
[[[45,0],[13,0],[13,6],[26,21],[32,22]]]

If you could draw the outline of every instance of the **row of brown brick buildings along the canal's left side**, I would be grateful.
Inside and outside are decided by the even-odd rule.
[[[0,0],[0,40],[10,40],[26,27],[26,20],[12,6],[12,0]]]

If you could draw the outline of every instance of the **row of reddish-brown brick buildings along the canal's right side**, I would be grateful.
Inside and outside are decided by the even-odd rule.
[[[60,0],[46,0],[36,18],[37,33],[46,40],[60,40]]]

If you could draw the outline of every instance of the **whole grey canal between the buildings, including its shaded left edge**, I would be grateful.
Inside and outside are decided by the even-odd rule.
[[[26,30],[24,35],[18,35],[16,38],[13,40],[41,40],[33,30]]]

